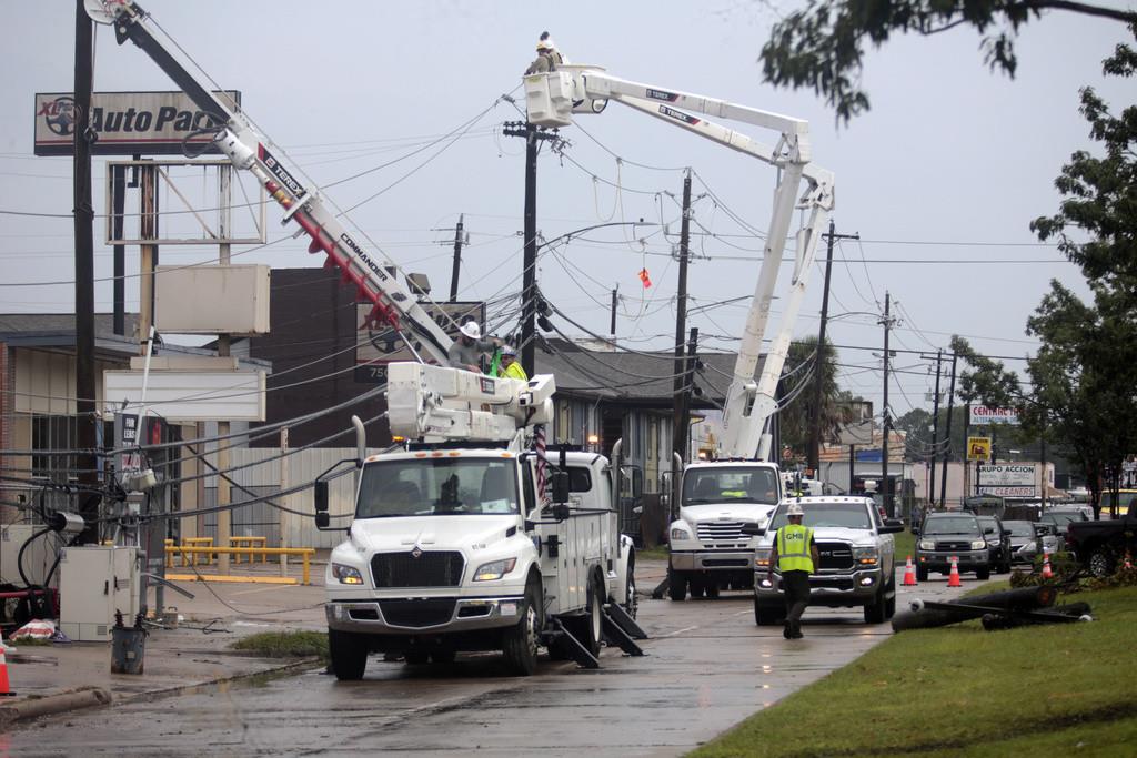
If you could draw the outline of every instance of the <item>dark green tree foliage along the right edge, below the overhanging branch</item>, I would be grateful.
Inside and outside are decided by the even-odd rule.
[[[1135,63],[1134,50],[1119,45],[1104,69],[1128,77]],[[954,338],[952,348],[970,367],[961,377],[961,397],[1016,407],[1024,430],[1055,440],[1080,464],[1097,503],[1102,483],[1117,490],[1121,463],[1137,449],[1137,108],[1113,116],[1087,88],[1081,113],[1104,156],[1071,156],[1056,181],[1065,195],[1060,211],[1032,228],[1043,240],[1060,238],[1093,300],[1084,302],[1051,282],[1027,322],[1027,334],[1041,343],[1027,360],[1029,383],[964,340]],[[1088,241],[1076,242],[1070,230]]]

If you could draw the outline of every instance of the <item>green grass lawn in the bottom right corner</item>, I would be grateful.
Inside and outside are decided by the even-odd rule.
[[[1067,597],[1099,620],[904,632],[691,755],[1126,755],[1137,588]]]

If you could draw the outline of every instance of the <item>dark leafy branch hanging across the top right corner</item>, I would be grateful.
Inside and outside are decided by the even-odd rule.
[[[866,44],[880,47],[894,33],[938,34],[973,26],[984,35],[984,59],[1014,76],[1014,36],[1044,10],[1065,10],[1132,24],[1137,14],[1068,0],[810,0],[774,25],[762,48],[765,81],[812,88],[839,120],[869,110],[861,88]]]

